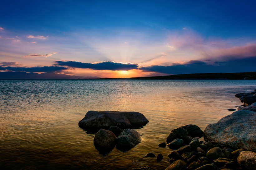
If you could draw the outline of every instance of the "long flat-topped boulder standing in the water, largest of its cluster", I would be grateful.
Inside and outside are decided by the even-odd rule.
[[[78,123],[84,129],[109,128],[118,126],[120,128],[144,126],[149,121],[139,112],[116,112],[116,111],[89,111]]]

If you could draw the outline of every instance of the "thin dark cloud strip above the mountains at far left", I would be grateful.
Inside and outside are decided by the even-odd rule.
[[[66,67],[57,67],[57,66],[44,66],[44,67],[2,67],[0,70],[5,71],[26,71],[26,72],[55,72],[60,70],[66,70]]]

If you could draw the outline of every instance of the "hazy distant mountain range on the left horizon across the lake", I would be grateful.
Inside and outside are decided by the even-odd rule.
[[[27,73],[24,71],[5,71],[0,72],[0,79],[100,79],[91,76],[70,76],[57,73]]]

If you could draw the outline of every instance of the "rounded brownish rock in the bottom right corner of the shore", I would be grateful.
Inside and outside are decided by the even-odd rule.
[[[251,151],[242,151],[237,158],[237,162],[242,168],[255,170],[256,169],[256,153]]]

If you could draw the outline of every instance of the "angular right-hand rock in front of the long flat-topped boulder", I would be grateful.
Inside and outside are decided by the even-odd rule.
[[[116,148],[120,150],[129,150],[135,147],[141,141],[139,132],[126,129],[119,136],[116,137]]]

